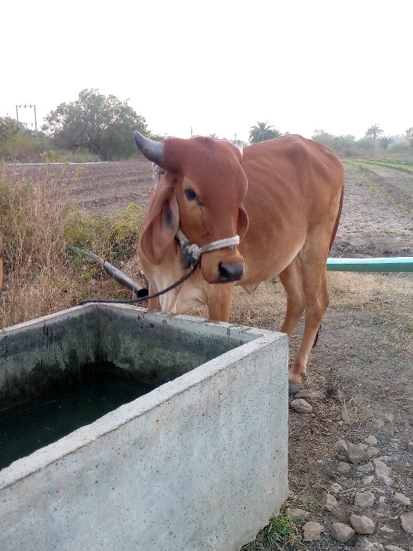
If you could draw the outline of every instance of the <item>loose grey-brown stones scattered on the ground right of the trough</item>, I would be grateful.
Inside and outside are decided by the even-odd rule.
[[[323,399],[324,393],[314,388],[299,391],[290,402],[295,410],[292,415],[314,417],[321,404],[318,401]],[[311,419],[311,415],[307,418]],[[393,421],[393,415],[385,416],[385,422]],[[385,422],[377,426],[382,428]],[[358,440],[337,441],[337,455],[330,460],[331,478],[335,481],[330,488],[324,488],[317,513],[289,508],[286,514],[298,525],[305,521],[301,526],[304,541],[321,540],[319,547],[314,547],[317,550],[323,548],[323,541],[330,549],[332,541],[336,541],[337,550],[343,549],[339,544],[346,544],[345,549],[354,551],[413,551],[412,496],[403,493],[405,487],[392,469],[397,461],[395,454],[411,455],[413,443],[386,439],[379,434]],[[383,451],[390,455],[381,455]],[[322,488],[319,484],[313,485],[315,490]],[[406,543],[408,541],[411,543]]]

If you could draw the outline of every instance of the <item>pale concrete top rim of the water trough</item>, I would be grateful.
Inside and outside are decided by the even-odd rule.
[[[113,410],[103,417],[97,419],[94,423],[83,426],[74,430],[74,432],[69,435],[57,440],[56,442],[45,446],[40,450],[35,451],[28,457],[23,457],[14,461],[10,466],[4,468],[0,471],[0,491],[8,488],[15,482],[28,477],[33,472],[37,472],[42,468],[47,467],[59,461],[62,457],[74,453],[79,448],[87,446],[91,441],[96,440],[98,437],[101,437],[107,433],[116,430],[119,426],[127,424],[136,417],[143,415],[147,411],[155,408],[159,404],[167,402],[172,397],[179,395],[180,393],[191,388],[198,384],[202,380],[207,380],[216,373],[220,373],[230,364],[235,364],[238,360],[248,355],[251,355],[261,349],[263,346],[267,346],[278,340],[285,340],[288,342],[288,337],[284,333],[276,333],[273,331],[267,331],[266,329],[257,329],[247,326],[234,325],[231,326],[229,323],[224,322],[212,322],[211,320],[204,320],[204,318],[195,318],[189,315],[176,315],[171,313],[160,313],[155,311],[150,311],[148,309],[136,306],[130,306],[125,304],[110,304],[104,305],[105,307],[115,306],[116,308],[122,309],[133,309],[138,311],[142,315],[148,318],[158,317],[159,315],[165,316],[165,320],[171,324],[178,324],[179,326],[184,326],[188,322],[192,322],[195,325],[201,325],[207,322],[211,329],[216,329],[217,334],[220,333],[222,326],[231,333],[231,331],[239,332],[242,331],[244,335],[251,337],[249,342],[245,342],[240,346],[235,346],[235,348],[227,351],[226,353],[220,355],[219,357],[209,360],[204,364],[198,366],[198,368],[193,371],[189,371],[180,377],[177,377],[175,380],[167,382],[158,388],[155,388],[150,393],[141,396],[129,402],[129,404],[123,404],[118,407],[116,410]],[[38,318],[36,320],[30,320],[29,322],[24,322],[23,324],[18,324],[6,329],[23,329],[32,324],[43,323],[47,320],[56,317],[56,315],[61,314],[71,314],[76,313],[78,309],[93,309],[96,308],[96,304],[85,304],[83,306],[74,306],[73,309],[67,309],[65,311],[60,311],[56,314],[50,314],[43,316],[43,318]],[[75,312],[74,312],[75,311]],[[215,331],[214,331],[215,333]],[[288,346],[288,344],[286,345]],[[287,380],[287,377],[286,377]],[[287,387],[285,389],[287,393]]]

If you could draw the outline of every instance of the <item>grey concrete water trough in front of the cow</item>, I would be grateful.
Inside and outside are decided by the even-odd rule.
[[[0,331],[0,549],[238,551],[287,497],[287,337],[87,304]]]

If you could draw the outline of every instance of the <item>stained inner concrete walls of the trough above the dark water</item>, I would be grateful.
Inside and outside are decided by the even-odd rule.
[[[14,326],[0,335],[0,410],[81,381],[119,372],[160,386],[240,346],[245,336],[188,333],[165,317],[103,304]]]

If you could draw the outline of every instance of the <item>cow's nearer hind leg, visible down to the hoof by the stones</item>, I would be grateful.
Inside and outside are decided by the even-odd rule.
[[[301,377],[306,374],[308,356],[330,302],[326,282],[328,251],[321,251],[317,241],[315,240],[314,245],[304,245],[300,255],[306,315],[301,344],[290,366],[290,383],[299,383]]]

